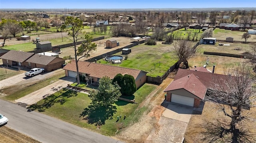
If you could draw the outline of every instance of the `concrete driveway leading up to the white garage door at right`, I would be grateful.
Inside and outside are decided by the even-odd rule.
[[[166,109],[145,143],[181,143],[194,108],[164,101]]]

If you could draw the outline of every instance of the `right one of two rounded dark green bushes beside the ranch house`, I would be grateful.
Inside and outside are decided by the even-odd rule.
[[[136,83],[132,75],[124,74],[121,80],[121,93],[125,95],[132,95],[136,92]]]

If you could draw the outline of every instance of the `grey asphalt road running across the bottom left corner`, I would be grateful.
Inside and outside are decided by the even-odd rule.
[[[9,119],[6,126],[42,143],[123,143],[4,100],[0,100],[0,113]]]

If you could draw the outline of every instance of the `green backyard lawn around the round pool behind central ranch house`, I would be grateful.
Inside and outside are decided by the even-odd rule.
[[[103,59],[99,63],[109,64],[132,69],[139,69],[148,72],[148,76],[162,76],[170,66],[177,62],[171,51],[172,45],[145,45],[140,44],[132,47],[132,53],[128,55],[128,59],[122,61],[121,64],[112,64]],[[116,53],[115,55],[121,55]],[[123,55],[124,56],[124,55]]]

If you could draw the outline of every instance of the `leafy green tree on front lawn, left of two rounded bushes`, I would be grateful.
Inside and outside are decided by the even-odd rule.
[[[92,105],[110,106],[114,104],[121,96],[120,86],[112,84],[112,80],[104,76],[99,81],[97,90],[90,92],[89,98],[92,100]]]

